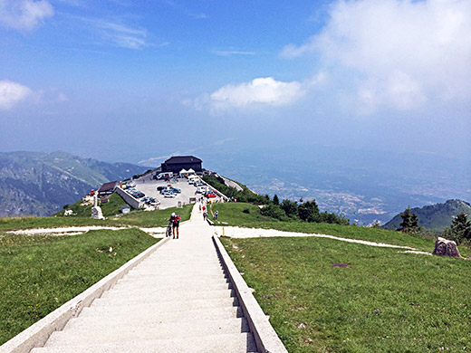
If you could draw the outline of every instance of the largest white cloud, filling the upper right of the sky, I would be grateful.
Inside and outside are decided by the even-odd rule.
[[[322,31],[281,55],[316,55],[358,79],[370,109],[471,98],[471,1],[337,1]]]

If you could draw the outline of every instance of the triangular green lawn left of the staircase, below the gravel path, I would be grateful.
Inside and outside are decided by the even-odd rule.
[[[0,345],[157,242],[136,228],[0,235]]]

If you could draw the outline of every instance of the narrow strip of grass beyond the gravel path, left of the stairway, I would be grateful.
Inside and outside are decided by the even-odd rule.
[[[182,208],[172,207],[157,211],[133,211],[129,215],[119,217],[108,217],[107,219],[91,219],[91,217],[0,217],[0,233],[14,229],[27,228],[52,228],[59,226],[73,225],[111,225],[111,226],[166,226],[165,218],[168,218],[172,212],[178,213],[182,221],[189,219],[193,205],[184,205]]]

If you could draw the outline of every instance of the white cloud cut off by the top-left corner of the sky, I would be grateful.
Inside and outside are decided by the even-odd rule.
[[[0,23],[20,31],[31,31],[54,14],[47,0],[0,0]]]

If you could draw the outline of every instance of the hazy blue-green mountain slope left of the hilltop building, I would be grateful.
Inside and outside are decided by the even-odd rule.
[[[0,215],[51,215],[91,188],[145,170],[65,152],[0,153]]]

